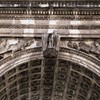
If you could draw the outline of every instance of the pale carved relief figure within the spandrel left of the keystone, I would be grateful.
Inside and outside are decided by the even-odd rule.
[[[26,49],[29,47],[33,41],[32,40],[13,40],[14,42],[9,42],[10,39],[6,41],[0,41],[0,54],[8,53],[8,52],[16,52],[18,50]]]

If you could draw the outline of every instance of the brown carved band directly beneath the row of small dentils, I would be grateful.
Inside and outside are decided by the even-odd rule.
[[[0,14],[0,19],[35,19],[35,20],[75,20],[75,15],[21,15],[21,14]],[[77,20],[100,20],[98,15],[79,15]]]

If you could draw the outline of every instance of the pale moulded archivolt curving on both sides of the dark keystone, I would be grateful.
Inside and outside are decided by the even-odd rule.
[[[30,60],[35,60],[38,58],[43,59],[43,52],[41,50],[39,50],[38,52],[32,52],[32,50],[30,52],[27,51],[24,51],[24,53],[22,51],[23,53],[22,55],[20,52],[18,56],[14,58],[12,57],[12,59],[8,59],[6,63],[2,63],[2,62],[5,62],[4,60],[7,58],[0,61],[0,63],[2,63],[2,65],[0,64],[1,65],[0,76],[2,76],[5,72],[11,70],[12,68],[22,63],[28,62]],[[8,58],[11,58],[11,56]],[[77,63],[79,65],[82,65],[85,68],[97,74],[98,76],[100,76],[100,61],[85,53],[71,50],[68,48],[60,48],[60,51],[58,53],[58,59],[68,60]]]

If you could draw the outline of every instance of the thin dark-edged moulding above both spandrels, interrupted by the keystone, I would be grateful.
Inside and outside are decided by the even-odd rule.
[[[40,38],[45,33],[0,33],[1,38]],[[59,33],[62,39],[99,39],[100,33],[88,33],[88,34],[68,34],[68,33]]]

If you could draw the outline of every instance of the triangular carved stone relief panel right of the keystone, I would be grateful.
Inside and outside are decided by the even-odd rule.
[[[82,51],[100,59],[100,39],[61,40],[60,47]]]

